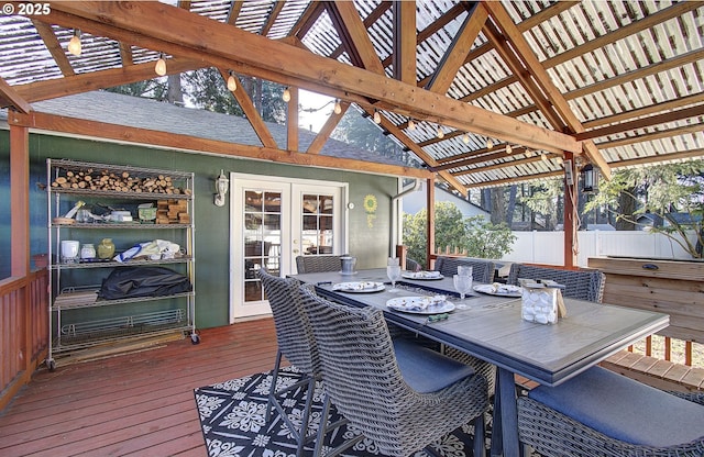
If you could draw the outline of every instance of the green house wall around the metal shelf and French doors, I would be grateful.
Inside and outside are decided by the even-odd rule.
[[[0,131],[0,164],[9,161],[8,137],[8,131]],[[196,324],[199,328],[228,324],[229,211],[227,208],[218,208],[212,203],[213,180],[220,169],[223,169],[226,174],[235,171],[283,178],[349,182],[350,201],[355,204],[355,208],[349,211],[349,250],[358,257],[358,267],[384,267],[391,252],[391,199],[397,190],[397,180],[394,177],[31,134],[32,254],[46,252],[46,193],[38,190],[34,182],[46,181],[47,157],[193,171],[195,174]],[[0,182],[0,189],[6,196],[9,194],[8,186],[6,180]],[[364,197],[367,194],[374,194],[377,200],[375,219],[372,221],[373,226],[369,225],[369,214],[364,208]],[[2,236],[1,238],[7,237]],[[0,256],[4,258],[4,254],[9,256],[9,252],[3,254],[3,248],[9,249],[9,246],[0,245]]]

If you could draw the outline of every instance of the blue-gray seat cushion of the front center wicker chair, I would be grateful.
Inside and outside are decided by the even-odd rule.
[[[404,380],[421,393],[437,392],[474,375],[474,368],[407,339],[395,339],[396,363]]]

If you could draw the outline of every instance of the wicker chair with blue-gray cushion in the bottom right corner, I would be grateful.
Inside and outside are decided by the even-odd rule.
[[[544,457],[701,457],[704,392],[673,395],[594,367],[519,398],[518,430]]]

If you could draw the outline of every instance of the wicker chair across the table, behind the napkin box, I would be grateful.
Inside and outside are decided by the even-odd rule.
[[[518,278],[549,279],[564,286],[562,294],[579,300],[601,303],[604,298],[606,276],[600,270],[565,270],[560,268],[538,267],[535,265],[513,264],[507,283],[518,286]]]

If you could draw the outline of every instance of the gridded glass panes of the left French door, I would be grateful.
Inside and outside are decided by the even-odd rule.
[[[279,276],[282,260],[282,193],[244,192],[244,301],[264,300],[256,270]]]

